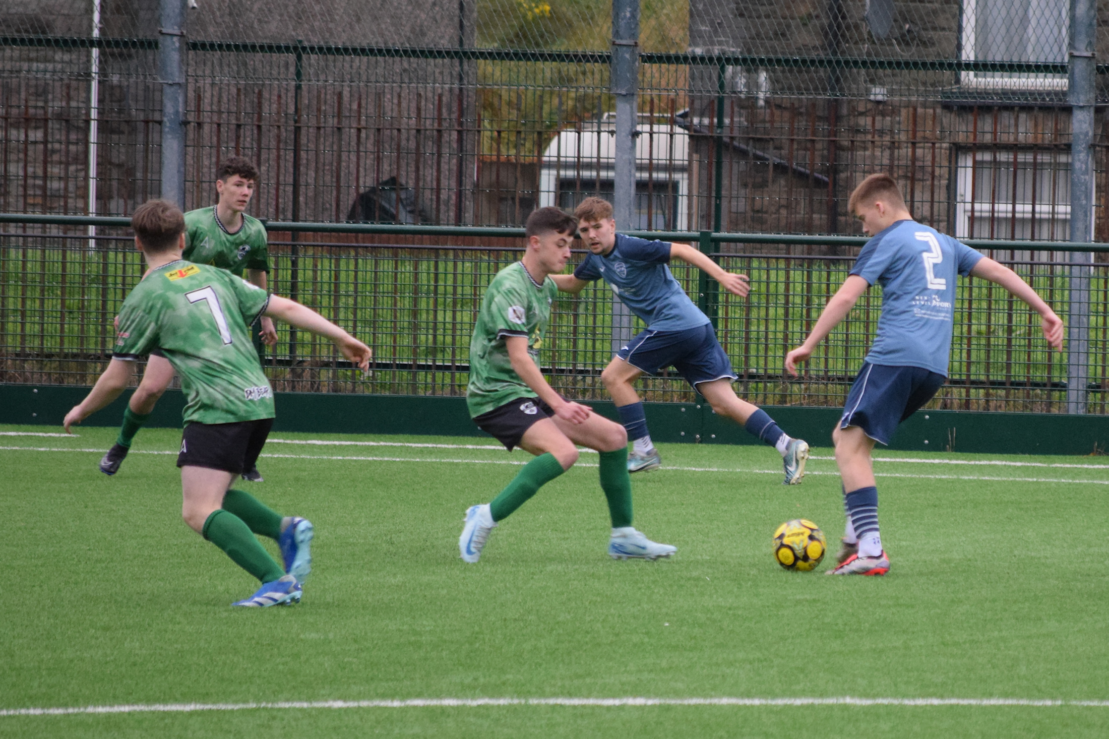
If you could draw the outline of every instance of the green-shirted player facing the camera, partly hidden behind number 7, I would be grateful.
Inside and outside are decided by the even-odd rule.
[[[266,290],[266,275],[269,272],[266,230],[261,221],[243,212],[251,203],[257,180],[257,170],[242,156],[233,156],[220,165],[215,181],[218,202],[185,213],[183,259],[197,264],[211,264],[240,277],[243,276],[243,270],[246,270],[247,280]],[[277,343],[277,332],[268,316],[262,316],[255,325],[260,327],[260,333],[255,335],[262,343],[271,346]],[[134,435],[150,418],[157,398],[162,397],[165,388],[173,382],[173,366],[155,347],[146,363],[142,382],[123,412],[123,425],[115,444],[100,460],[102,473],[114,475],[119,472],[131,449]],[[245,470],[243,478],[262,482],[257,468]]]

